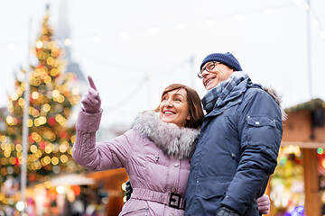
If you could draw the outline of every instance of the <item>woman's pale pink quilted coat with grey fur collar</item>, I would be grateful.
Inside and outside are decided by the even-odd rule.
[[[73,158],[88,170],[125,167],[134,192],[119,215],[183,215],[167,202],[168,193],[184,196],[190,156],[199,130],[165,123],[155,112],[143,112],[131,130],[96,143],[101,112],[79,112]]]

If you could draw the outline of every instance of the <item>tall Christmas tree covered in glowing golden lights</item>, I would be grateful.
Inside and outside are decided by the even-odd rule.
[[[40,36],[31,49],[37,63],[30,66],[28,77],[31,89],[27,121],[28,184],[79,169],[72,159],[75,129],[74,125],[68,125],[71,107],[79,102],[79,90],[69,86],[74,74],[63,73],[63,51],[52,38],[49,15],[47,12]],[[9,176],[18,179],[21,173],[25,75],[22,69],[15,77],[15,91],[9,95],[5,131],[0,134],[0,184]]]

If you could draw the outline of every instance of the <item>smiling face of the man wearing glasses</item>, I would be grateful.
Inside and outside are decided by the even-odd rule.
[[[211,67],[210,64],[215,64],[213,69],[207,71],[205,68]],[[207,90],[217,86],[220,82],[225,81],[235,71],[234,69],[222,63],[209,61],[202,67],[202,83]]]

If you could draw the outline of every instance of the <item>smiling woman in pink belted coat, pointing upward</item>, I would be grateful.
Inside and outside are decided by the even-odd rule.
[[[204,116],[200,96],[186,85],[169,85],[155,112],[138,114],[131,130],[96,143],[101,100],[90,76],[88,80],[91,88],[81,101],[74,160],[89,170],[125,167],[133,193],[119,215],[183,215],[190,156]]]

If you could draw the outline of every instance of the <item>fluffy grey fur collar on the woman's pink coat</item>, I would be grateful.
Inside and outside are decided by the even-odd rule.
[[[197,144],[200,130],[179,128],[163,122],[159,112],[145,111],[135,117],[132,128],[153,140],[169,157],[191,157]]]

